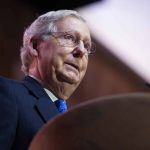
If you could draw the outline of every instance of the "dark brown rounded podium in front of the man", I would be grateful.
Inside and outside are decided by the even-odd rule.
[[[80,104],[44,125],[29,150],[150,150],[150,94]]]

